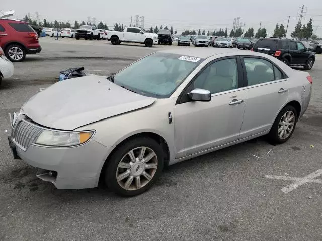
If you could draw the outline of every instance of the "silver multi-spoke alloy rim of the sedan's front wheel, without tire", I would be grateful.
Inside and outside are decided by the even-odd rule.
[[[156,173],[158,160],[148,147],[137,147],[123,156],[116,170],[118,184],[125,190],[134,191],[147,185]]]

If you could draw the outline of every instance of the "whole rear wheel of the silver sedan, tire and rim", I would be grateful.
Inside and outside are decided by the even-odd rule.
[[[268,134],[270,141],[273,143],[286,142],[294,132],[297,116],[298,113],[293,106],[285,106],[277,115],[271,131]]]

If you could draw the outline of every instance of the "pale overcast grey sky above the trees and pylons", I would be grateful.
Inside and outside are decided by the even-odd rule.
[[[245,23],[245,31],[249,27],[254,28],[254,32],[260,27],[267,29],[268,36],[272,36],[276,23],[285,27],[290,16],[287,37],[294,30],[298,22],[299,7],[304,4],[304,16],[302,25],[306,24],[310,18],[313,19],[313,32],[322,37],[322,1],[310,0],[270,0],[270,1],[205,1],[205,0],[123,0],[123,1],[103,1],[103,0],[55,0],[46,2],[44,0],[0,0],[0,10],[15,10],[15,18],[23,18],[30,13],[36,19],[35,12],[39,13],[42,21],[47,19],[67,22],[72,25],[77,21],[87,22],[88,17],[96,18],[96,22],[107,23],[110,29],[114,24],[121,23],[129,26],[131,16],[135,24],[135,15],[144,16],[144,28],[157,25],[169,28],[173,26],[178,34],[184,30],[205,29],[213,32],[220,28],[228,29],[228,34],[233,26],[233,19],[240,17],[240,22]],[[141,18],[139,18],[141,25]]]

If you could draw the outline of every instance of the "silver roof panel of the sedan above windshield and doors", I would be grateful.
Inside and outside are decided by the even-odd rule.
[[[206,59],[217,54],[229,53],[231,55],[254,55],[267,57],[267,54],[261,54],[258,52],[236,50],[236,49],[221,49],[221,48],[178,48],[178,49],[165,49],[158,51],[159,53],[178,54],[182,56],[193,56],[197,58]]]

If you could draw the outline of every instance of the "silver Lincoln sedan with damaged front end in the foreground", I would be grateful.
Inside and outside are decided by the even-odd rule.
[[[9,144],[57,188],[92,188],[102,177],[132,196],[165,165],[262,135],[286,142],[311,86],[307,72],[266,54],[164,50],[107,79],[68,79],[37,93],[11,115]]]

